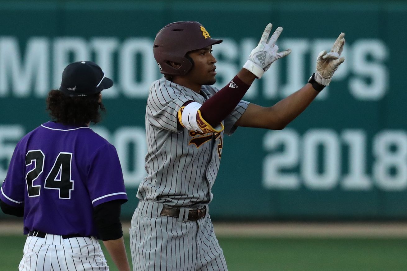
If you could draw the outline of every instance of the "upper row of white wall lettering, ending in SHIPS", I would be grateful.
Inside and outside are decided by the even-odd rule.
[[[245,99],[280,100],[299,90],[315,72],[318,53],[329,51],[334,40],[279,40],[280,50],[291,48],[291,54],[274,62],[262,79],[255,80]],[[213,46],[213,54],[218,58],[217,87],[233,78],[257,43],[254,38],[243,37],[239,41],[225,38],[223,43]],[[346,60],[335,72],[334,83],[348,80],[346,88],[361,101],[383,98],[389,88],[386,44],[379,39],[357,39],[346,44],[342,55]],[[44,97],[50,87],[59,87],[63,68],[81,60],[94,60],[114,80],[114,87],[104,94],[105,98],[123,95],[145,99],[149,85],[162,76],[153,56],[153,39],[147,37],[124,41],[117,37],[31,37],[23,50],[16,37],[0,36],[0,96]],[[329,88],[317,100],[329,98]]]

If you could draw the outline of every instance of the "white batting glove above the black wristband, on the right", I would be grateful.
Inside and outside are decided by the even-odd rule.
[[[326,50],[319,53],[317,57],[317,72],[315,72],[315,81],[321,85],[329,85],[332,76],[345,61],[344,57],[340,57],[345,45],[345,33],[341,33],[336,39],[330,52]]]

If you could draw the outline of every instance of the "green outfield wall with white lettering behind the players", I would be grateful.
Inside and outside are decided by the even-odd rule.
[[[118,150],[131,216],[145,176],[144,114],[160,78],[152,44],[162,26],[197,20],[210,35],[217,83],[240,70],[265,25],[280,49],[245,99],[271,106],[298,90],[317,54],[346,33],[346,60],[282,131],[239,128],[225,137],[214,219],[407,219],[407,4],[339,2],[0,2],[0,178],[15,144],[49,120],[45,96],[72,61],[96,61],[115,85],[94,130]],[[1,216],[4,218],[4,216]]]

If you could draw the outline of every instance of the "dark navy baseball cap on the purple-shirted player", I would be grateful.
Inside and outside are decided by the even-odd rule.
[[[92,61],[70,63],[62,72],[59,91],[73,96],[96,94],[112,87],[113,81],[105,76],[105,72]]]

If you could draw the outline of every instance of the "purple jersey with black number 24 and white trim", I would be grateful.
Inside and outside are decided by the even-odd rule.
[[[127,201],[116,149],[87,126],[46,122],[15,147],[0,198],[24,204],[24,234],[97,236],[93,208]]]

